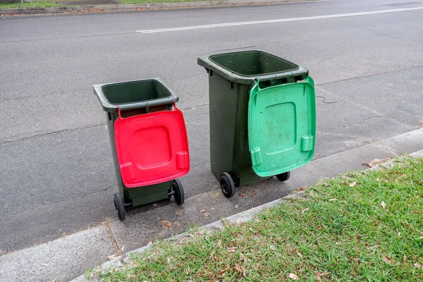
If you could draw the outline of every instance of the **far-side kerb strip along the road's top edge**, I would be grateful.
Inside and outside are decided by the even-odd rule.
[[[195,2],[174,2],[174,3],[152,3],[152,4],[107,4],[87,6],[63,6],[49,8],[11,8],[0,9],[0,15],[38,15],[54,13],[108,13],[120,11],[152,11],[177,8],[211,8],[227,6],[246,5],[267,5],[287,4],[317,0],[223,0],[223,1],[195,1]]]

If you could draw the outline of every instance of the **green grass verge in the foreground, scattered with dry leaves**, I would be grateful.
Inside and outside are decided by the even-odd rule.
[[[321,180],[240,226],[158,242],[101,281],[422,281],[423,159]],[[382,204],[382,202],[384,204]],[[294,277],[294,276],[293,276]],[[320,280],[319,280],[320,279]]]

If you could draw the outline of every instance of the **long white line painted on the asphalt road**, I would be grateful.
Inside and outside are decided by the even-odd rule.
[[[305,17],[305,18],[279,18],[276,20],[256,20],[253,22],[240,22],[240,23],[216,23],[214,25],[193,25],[188,27],[162,28],[159,30],[137,30],[136,32],[155,33],[155,32],[171,32],[171,31],[180,31],[180,30],[200,30],[202,28],[228,27],[228,26],[235,26],[235,25],[259,25],[262,23],[295,22],[299,20],[318,20],[321,18],[343,18],[343,17],[353,17],[353,16],[375,15],[378,13],[396,13],[396,12],[405,12],[405,11],[415,11],[415,10],[422,10],[422,9],[423,7],[398,8],[398,9],[391,9],[391,10],[380,10],[380,11],[370,11],[370,12],[360,12],[360,13],[338,13],[335,15],[313,16],[313,17]]]

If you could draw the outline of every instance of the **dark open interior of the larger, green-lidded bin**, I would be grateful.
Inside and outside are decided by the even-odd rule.
[[[238,75],[265,75],[283,73],[299,68],[295,63],[286,61],[264,51],[241,51],[209,56],[214,63]]]

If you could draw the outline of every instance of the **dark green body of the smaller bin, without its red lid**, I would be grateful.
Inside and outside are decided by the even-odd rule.
[[[94,85],[93,90],[102,103],[104,111],[106,111],[116,180],[125,207],[131,209],[152,202],[167,200],[172,181],[137,188],[128,188],[123,184],[116,154],[114,123],[119,116],[118,106],[123,117],[154,111],[166,111],[172,108],[174,102],[178,102],[176,94],[166,87],[159,78]]]

